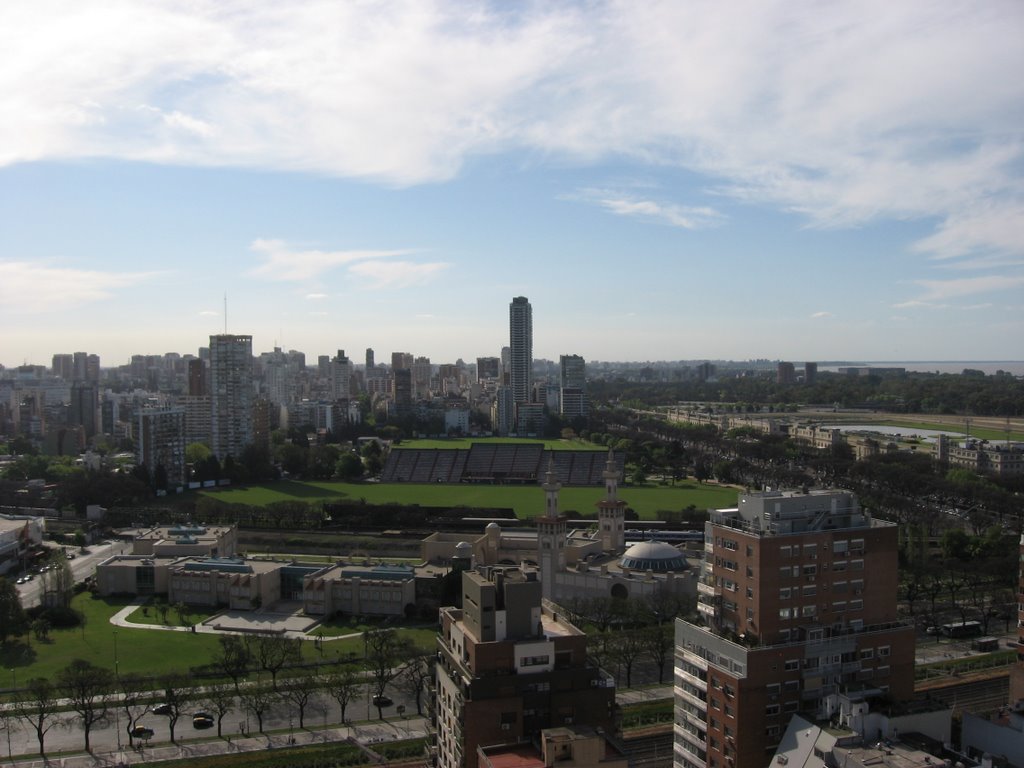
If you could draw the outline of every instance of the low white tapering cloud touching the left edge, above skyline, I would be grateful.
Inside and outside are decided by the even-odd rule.
[[[0,260],[0,311],[6,314],[58,312],[102,301],[157,272],[102,272],[28,261]]]

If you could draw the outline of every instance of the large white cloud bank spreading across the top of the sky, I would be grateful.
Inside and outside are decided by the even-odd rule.
[[[3,3],[0,165],[410,184],[480,154],[626,157],[820,226],[934,220],[916,248],[936,258],[1020,255],[1022,22],[1016,0]]]

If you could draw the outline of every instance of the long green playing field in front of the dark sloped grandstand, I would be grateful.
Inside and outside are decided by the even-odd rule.
[[[301,493],[297,486],[302,486]],[[345,483],[331,481],[298,482],[286,480],[253,485],[250,487],[223,488],[201,492],[228,504],[264,506],[279,501],[358,501],[370,504],[421,504],[424,506],[453,507],[510,507],[518,517],[537,517],[544,511],[544,492],[538,485],[470,485],[470,484],[418,484],[418,483]],[[738,490],[735,487],[699,484],[684,481],[672,485],[625,486],[620,497],[643,520],[656,520],[662,512],[685,509],[733,507]],[[590,513],[594,505],[604,498],[602,487],[563,487],[558,497],[563,513]]]

